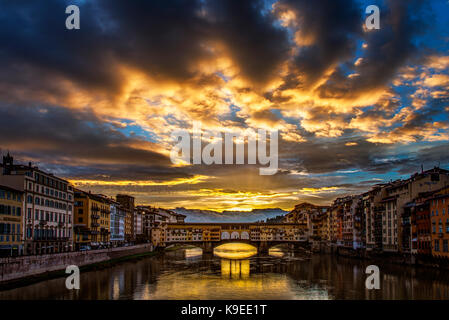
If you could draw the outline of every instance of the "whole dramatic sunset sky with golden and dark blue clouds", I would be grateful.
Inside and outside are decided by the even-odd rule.
[[[448,168],[448,16],[447,0],[3,0],[1,152],[83,190],[218,211]],[[279,130],[278,172],[173,164],[193,121]]]

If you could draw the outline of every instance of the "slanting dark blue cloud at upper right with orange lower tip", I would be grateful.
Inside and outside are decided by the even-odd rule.
[[[425,32],[432,19],[429,3],[422,0],[389,0],[382,6],[381,28],[365,32],[368,45],[362,63],[354,68],[359,76],[348,79],[343,69],[337,69],[320,88],[321,96],[344,97],[386,85],[409,59],[419,52],[416,36]]]

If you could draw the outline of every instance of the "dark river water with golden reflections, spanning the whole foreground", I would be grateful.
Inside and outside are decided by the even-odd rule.
[[[379,265],[380,289],[365,288],[367,261],[274,249],[258,256],[244,245],[181,249],[163,256],[0,291],[0,299],[449,299],[445,270]]]

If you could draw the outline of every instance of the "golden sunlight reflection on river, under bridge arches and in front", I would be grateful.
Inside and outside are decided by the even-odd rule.
[[[201,250],[186,252],[186,257]],[[280,249],[271,250],[282,256]],[[174,272],[164,274],[154,291],[145,292],[139,299],[329,299],[327,290],[298,287],[286,274],[250,274],[250,257],[257,249],[245,243],[229,243],[214,250],[221,258],[221,277],[217,274]]]

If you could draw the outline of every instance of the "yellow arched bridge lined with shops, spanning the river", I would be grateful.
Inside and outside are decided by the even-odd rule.
[[[266,253],[270,247],[283,243],[292,248],[306,246],[306,227],[295,223],[169,223],[164,243],[194,245],[203,253],[211,253],[224,243],[240,242]]]

